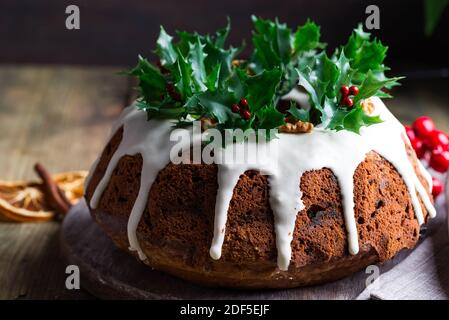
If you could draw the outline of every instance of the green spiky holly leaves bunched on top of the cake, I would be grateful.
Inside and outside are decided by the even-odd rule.
[[[385,76],[387,47],[371,40],[361,25],[328,56],[320,27],[310,20],[295,31],[277,19],[253,16],[252,21],[253,52],[247,60],[238,59],[244,43],[225,47],[229,19],[213,35],[181,31],[177,41],[161,27],[157,64],[139,56],[128,72],[139,80],[137,107],[149,119],[175,119],[178,126],[207,117],[218,129],[276,129],[296,119],[358,133],[363,126],[381,122],[365,114],[360,102],[371,96],[390,97],[383,88],[397,85],[400,78]],[[310,108],[291,103],[281,110],[282,96],[298,85],[308,94]],[[359,88],[350,107],[341,103],[342,85]],[[236,107],[242,99],[245,104]]]

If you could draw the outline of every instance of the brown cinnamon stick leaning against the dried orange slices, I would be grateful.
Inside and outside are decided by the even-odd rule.
[[[51,177],[50,173],[40,163],[34,165],[34,171],[42,179],[45,195],[56,212],[65,215],[72,204],[65,196],[61,188],[58,187],[56,182]]]

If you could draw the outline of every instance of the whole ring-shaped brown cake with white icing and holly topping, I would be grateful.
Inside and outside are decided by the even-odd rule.
[[[413,248],[435,209],[431,177],[380,99],[387,96],[381,89],[397,79],[373,64],[367,72],[358,66],[367,53],[346,52],[351,38],[331,58],[317,53],[324,47],[317,39],[304,52],[291,41],[288,62],[273,47],[283,65],[269,68],[258,55],[258,32],[265,28],[269,37],[272,28],[290,29],[253,19],[256,58],[250,62],[222,49],[228,29],[216,37],[181,33],[179,47],[161,30],[159,67],[141,58],[131,70],[141,98],[124,109],[86,180],[94,220],[148,266],[207,286],[322,283]],[[314,27],[307,22],[289,37]],[[269,42],[266,35],[261,39]],[[351,37],[359,37],[359,46],[366,47],[362,40],[381,45],[360,28]],[[230,56],[207,62],[214,52]],[[288,68],[296,71],[291,85]],[[203,130],[195,130],[194,120]],[[215,144],[213,161],[205,161],[210,143],[203,139],[211,128],[276,134]],[[245,150],[264,153],[255,161],[232,157]]]

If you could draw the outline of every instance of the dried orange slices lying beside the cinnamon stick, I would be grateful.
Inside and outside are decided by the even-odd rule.
[[[67,199],[76,204],[83,196],[86,171],[64,172],[52,178]],[[43,185],[28,181],[0,180],[0,219],[9,221],[47,221],[55,216],[45,199]]]

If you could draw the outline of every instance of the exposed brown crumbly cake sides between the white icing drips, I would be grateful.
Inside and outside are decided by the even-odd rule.
[[[122,139],[119,129],[107,144],[86,190],[86,199],[103,177]],[[422,184],[416,156],[409,158]],[[99,205],[91,214],[121,249],[128,251],[127,223],[140,188],[142,157],[124,156]],[[288,288],[336,280],[413,248],[419,225],[407,188],[396,169],[370,152],[354,175],[360,251],[348,252],[338,181],[323,168],[298,181],[305,209],[296,218],[288,271],[279,271],[267,177],[249,170],[240,176],[228,210],[222,256],[209,255],[213,237],[217,167],[167,165],[148,195],[137,237],[147,265],[208,286]],[[423,205],[424,217],[428,213]],[[133,253],[135,254],[135,253]]]

